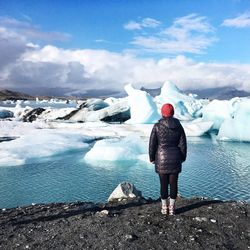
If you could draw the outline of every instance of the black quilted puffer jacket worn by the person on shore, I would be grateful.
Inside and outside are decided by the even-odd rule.
[[[186,135],[179,120],[173,117],[160,119],[149,140],[149,158],[155,162],[155,171],[162,174],[181,172],[186,155]]]

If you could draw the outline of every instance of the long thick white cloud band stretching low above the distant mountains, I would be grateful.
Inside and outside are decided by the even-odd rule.
[[[88,92],[121,91],[126,83],[159,87],[170,80],[181,89],[233,86],[250,91],[249,79],[250,64],[200,63],[185,56],[154,60],[106,50],[46,46],[23,54],[0,84]]]

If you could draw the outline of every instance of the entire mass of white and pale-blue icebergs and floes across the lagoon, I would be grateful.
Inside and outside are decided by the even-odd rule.
[[[14,114],[10,119],[0,118],[0,137],[18,137],[0,143],[0,166],[19,165],[69,149],[86,149],[89,141],[95,139],[98,141],[85,155],[87,161],[148,161],[149,135],[153,124],[161,117],[161,105],[166,102],[175,106],[175,116],[180,118],[187,136],[202,136],[215,129],[218,140],[250,142],[249,98],[209,102],[185,95],[169,82],[155,98],[132,85],[126,85],[125,90],[128,93],[126,98],[92,99],[79,110],[77,105],[79,108],[80,103],[76,101],[69,104],[60,100],[0,102],[2,117],[6,116],[3,110]],[[22,122],[29,111],[40,106],[45,111],[36,121]],[[129,109],[131,119],[127,123],[100,121]],[[70,120],[56,120],[74,110],[77,113]]]

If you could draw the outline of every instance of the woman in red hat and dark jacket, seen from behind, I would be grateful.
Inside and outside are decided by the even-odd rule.
[[[178,192],[178,175],[182,162],[186,160],[187,142],[184,129],[174,118],[174,107],[166,103],[161,108],[162,118],[154,125],[149,140],[150,162],[160,177],[162,214],[175,214],[175,200]],[[170,200],[168,185],[170,184]]]

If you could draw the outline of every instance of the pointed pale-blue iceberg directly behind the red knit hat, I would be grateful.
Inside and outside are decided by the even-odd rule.
[[[194,95],[186,95],[179,90],[176,85],[166,81],[162,88],[161,94],[155,97],[159,108],[164,103],[171,103],[175,108],[175,117],[181,120],[190,120],[199,117],[200,110],[207,101],[198,100]]]

